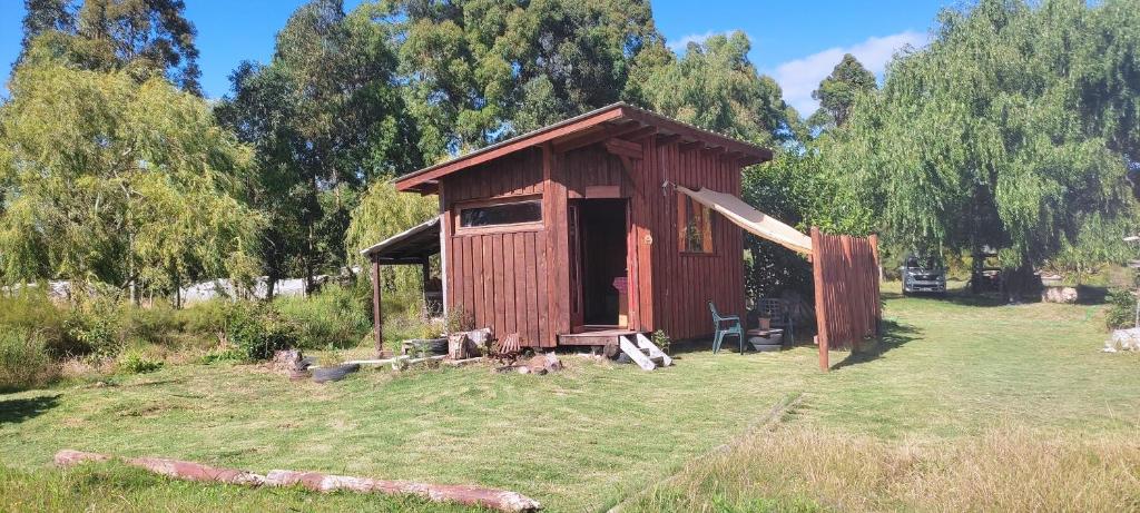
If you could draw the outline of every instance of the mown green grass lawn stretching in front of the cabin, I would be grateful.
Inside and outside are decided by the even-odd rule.
[[[75,510],[425,507],[157,486],[168,481],[116,467],[46,469],[56,450],[74,448],[255,472],[480,483],[549,511],[1140,507],[1140,355],[1099,352],[1107,335],[1098,309],[890,296],[888,337],[866,353],[832,353],[838,368],[826,374],[814,347],[803,347],[689,352],[653,373],[564,358],[568,369],[551,376],[378,370],[328,385],[190,365],[107,386],[0,396],[9,467],[0,500],[39,494],[58,500],[42,507]],[[758,425],[782,402],[793,406]],[[1002,483],[1032,488],[1026,481],[1047,472],[1053,478],[1040,486],[1068,478],[1060,491],[1085,502],[984,500],[1002,497]],[[1094,480],[1107,484],[1072,488]],[[963,483],[980,484],[971,492]]]

